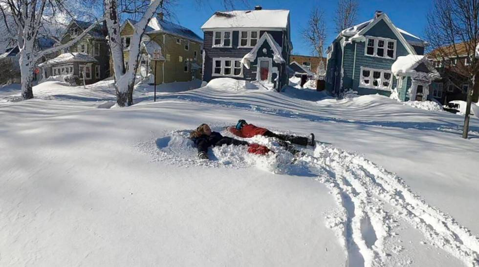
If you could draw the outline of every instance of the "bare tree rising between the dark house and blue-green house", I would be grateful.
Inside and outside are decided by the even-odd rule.
[[[318,7],[314,8],[309,15],[306,27],[302,30],[303,38],[312,48],[314,54],[319,57],[320,65],[324,64],[323,54],[326,40],[326,23],[324,13]],[[317,72],[319,70],[316,70]]]

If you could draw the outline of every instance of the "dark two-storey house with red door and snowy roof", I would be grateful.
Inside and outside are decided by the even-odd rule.
[[[289,10],[218,11],[204,32],[203,81],[232,77],[280,91],[288,85]]]

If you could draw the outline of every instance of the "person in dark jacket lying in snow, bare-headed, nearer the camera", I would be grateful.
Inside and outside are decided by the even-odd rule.
[[[246,141],[240,141],[231,137],[223,136],[218,132],[212,132],[208,124],[201,124],[195,131],[190,134],[190,139],[198,148],[198,157],[200,159],[208,159],[209,147],[226,145],[248,146],[248,153],[264,155],[270,152],[267,147],[258,144],[249,144]]]

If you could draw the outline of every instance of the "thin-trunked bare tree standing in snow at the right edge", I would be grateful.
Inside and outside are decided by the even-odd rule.
[[[428,15],[426,36],[435,59],[447,63],[451,59],[466,56],[470,64],[445,66],[444,78],[457,85],[455,76],[465,76],[469,84],[463,138],[469,131],[469,114],[474,94],[478,94],[479,82],[475,78],[479,71],[479,60],[474,57],[479,42],[479,1],[478,0],[435,0],[434,8]]]

